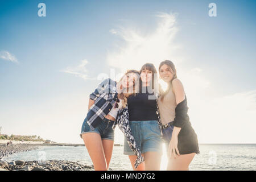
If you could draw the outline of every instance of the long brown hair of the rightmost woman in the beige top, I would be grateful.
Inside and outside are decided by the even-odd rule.
[[[172,74],[174,75],[174,77],[172,77],[172,80],[174,80],[175,78],[177,78],[177,72],[176,72],[176,68],[175,68],[175,65],[174,63],[172,63],[172,61],[170,60],[165,60],[165,61],[162,61],[159,65],[159,68],[158,68],[158,71],[159,71],[159,74],[160,74],[160,68],[166,64],[169,68],[171,68],[171,71],[172,71]],[[160,95],[162,96],[161,97],[161,101],[163,101],[163,98],[164,96],[169,92],[169,90],[171,89],[171,85],[172,85],[172,80],[168,83],[168,87],[166,90],[164,90],[162,88],[161,85],[159,85],[159,92],[160,92]]]

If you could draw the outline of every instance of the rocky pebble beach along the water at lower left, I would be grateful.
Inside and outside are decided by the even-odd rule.
[[[6,162],[1,159],[4,156],[17,152],[36,150],[44,144],[0,144],[0,171],[89,171],[93,166],[80,164],[79,162],[69,162],[67,160],[47,160],[44,162],[15,160]]]

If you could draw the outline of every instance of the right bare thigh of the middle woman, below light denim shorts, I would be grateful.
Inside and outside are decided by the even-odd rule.
[[[145,170],[159,171],[161,163],[161,155],[159,152],[145,152]]]

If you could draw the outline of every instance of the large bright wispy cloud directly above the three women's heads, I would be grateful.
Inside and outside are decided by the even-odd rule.
[[[126,69],[139,69],[147,61],[159,65],[161,60],[174,57],[179,46],[173,42],[178,28],[176,15],[158,13],[153,31],[142,34],[138,28],[120,27],[112,29],[112,34],[119,36],[123,42],[114,49],[109,50],[107,61],[111,67]]]

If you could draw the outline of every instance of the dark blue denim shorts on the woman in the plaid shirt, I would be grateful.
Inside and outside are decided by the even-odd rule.
[[[113,124],[114,121],[104,118],[102,119],[101,123],[94,130],[92,130],[87,123],[87,118],[85,118],[84,122],[82,123],[80,137],[82,138],[82,134],[84,133],[98,133],[101,135],[101,139],[114,141],[114,130],[112,129]]]

